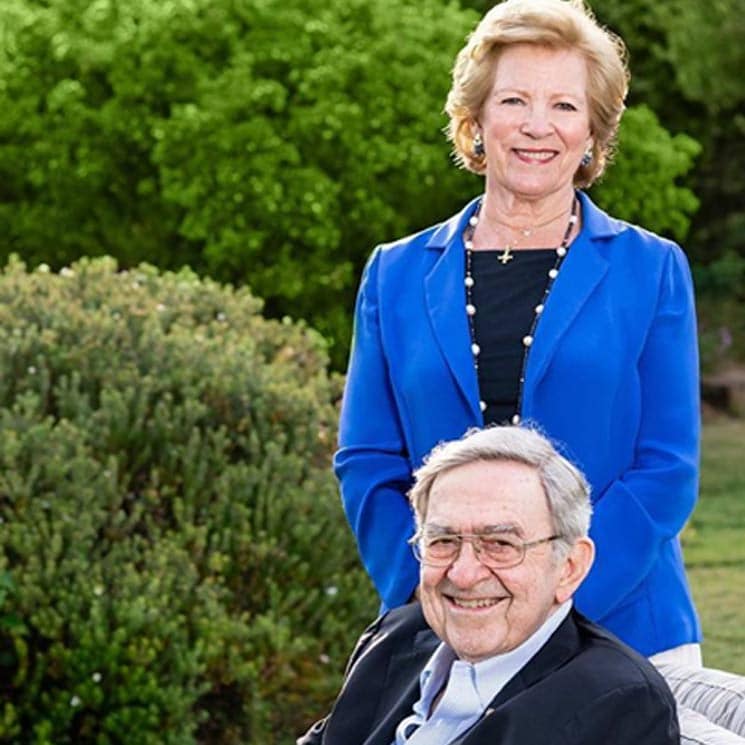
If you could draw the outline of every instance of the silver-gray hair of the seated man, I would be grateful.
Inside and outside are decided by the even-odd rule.
[[[587,480],[546,437],[526,426],[472,429],[460,440],[435,447],[414,473],[414,486],[409,492],[417,530],[421,530],[427,516],[435,479],[453,468],[478,461],[510,461],[535,468],[554,532],[563,536],[566,545],[587,535],[592,515]]]

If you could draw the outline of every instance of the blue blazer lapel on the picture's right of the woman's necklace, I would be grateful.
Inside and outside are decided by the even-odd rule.
[[[523,416],[530,416],[530,393],[545,375],[562,337],[608,271],[608,261],[598,251],[596,241],[625,229],[624,223],[609,218],[586,194],[578,192],[578,197],[582,232],[569,250],[536,330],[525,375]]]

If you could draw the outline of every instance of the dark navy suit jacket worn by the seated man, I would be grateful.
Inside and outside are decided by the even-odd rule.
[[[439,639],[418,603],[379,618],[326,719],[298,745],[391,745]],[[675,700],[653,665],[572,612],[458,745],[679,745]]]

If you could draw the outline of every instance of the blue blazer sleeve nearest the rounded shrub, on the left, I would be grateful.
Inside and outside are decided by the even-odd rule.
[[[381,335],[380,255],[371,256],[357,297],[334,471],[365,569],[384,607],[394,608],[411,598],[419,568],[405,540],[414,533],[412,470]]]

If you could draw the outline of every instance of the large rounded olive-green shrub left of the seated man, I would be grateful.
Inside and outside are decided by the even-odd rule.
[[[339,386],[259,312],[110,259],[0,277],[0,743],[290,743],[327,707],[374,604]]]

